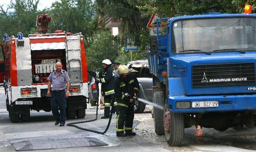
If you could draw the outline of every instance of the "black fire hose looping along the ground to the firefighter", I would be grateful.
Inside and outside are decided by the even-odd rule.
[[[92,76],[96,80],[95,76],[94,75],[92,75]],[[96,85],[96,86],[97,86],[97,90],[99,92],[99,86],[98,85]],[[98,119],[98,110],[99,110],[99,103],[98,102],[96,102],[96,117],[95,117],[95,119],[86,120],[86,121],[71,122],[71,123],[68,123],[66,125],[70,126],[70,127],[75,127],[77,129],[80,129],[80,130],[90,131],[90,132],[93,132],[93,133],[104,135],[108,131],[110,123],[111,123],[111,118],[112,118],[113,109],[114,109],[114,98],[111,100],[111,105],[112,106],[111,106],[111,111],[110,111],[109,122],[108,122],[108,125],[107,125],[106,129],[103,132],[100,132],[100,131],[97,131],[97,130],[91,130],[91,129],[87,129],[87,128],[82,128],[82,127],[79,127],[79,126],[76,125],[76,124],[79,124],[79,123],[86,123],[86,122],[96,121]]]

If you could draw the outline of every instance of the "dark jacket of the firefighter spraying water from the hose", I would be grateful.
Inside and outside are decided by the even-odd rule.
[[[128,93],[133,97],[134,93],[138,93],[138,91],[139,83],[135,74],[129,73],[127,78],[119,76],[115,79],[115,98],[119,106],[128,107],[128,105],[131,105],[130,98],[125,94]]]

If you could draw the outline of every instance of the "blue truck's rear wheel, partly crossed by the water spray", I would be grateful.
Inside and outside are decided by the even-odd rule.
[[[164,92],[155,92],[153,102],[159,105],[164,105]],[[155,124],[155,133],[157,135],[164,135],[164,120],[163,110],[154,107],[154,124]]]

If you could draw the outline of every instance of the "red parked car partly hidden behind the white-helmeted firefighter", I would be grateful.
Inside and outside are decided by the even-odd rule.
[[[95,106],[99,99],[99,88],[95,83],[95,78],[93,76],[89,75],[88,78],[88,100],[91,103],[91,106]]]

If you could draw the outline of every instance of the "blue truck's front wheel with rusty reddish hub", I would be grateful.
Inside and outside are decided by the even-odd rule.
[[[184,114],[169,111],[164,106],[164,134],[169,146],[180,146],[184,136]]]

